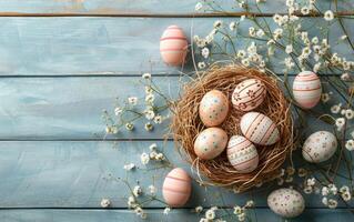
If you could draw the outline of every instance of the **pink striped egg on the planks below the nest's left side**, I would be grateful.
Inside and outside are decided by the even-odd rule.
[[[183,206],[190,199],[191,191],[191,178],[181,168],[173,169],[163,181],[163,199],[170,206]]]

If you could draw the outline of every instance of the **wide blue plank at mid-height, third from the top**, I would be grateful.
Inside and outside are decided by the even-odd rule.
[[[290,78],[292,82],[293,78]],[[0,139],[2,140],[83,140],[102,139],[105,134],[102,110],[113,114],[115,98],[127,101],[128,97],[143,97],[140,77],[85,77],[85,78],[2,78],[0,79]],[[161,91],[176,99],[180,79],[155,77]],[[291,84],[291,83],[290,83]],[[324,82],[327,91],[333,91]],[[327,110],[337,102],[332,95]],[[143,103],[143,98],[140,99]],[[156,95],[156,104],[162,105]],[[142,112],[145,108],[140,108]],[[166,113],[165,113],[166,114]],[[114,114],[113,114],[114,117]],[[117,139],[162,139],[168,132],[170,120],[146,132],[144,118],[136,122],[135,130],[124,128]],[[320,125],[322,127],[322,125]]]

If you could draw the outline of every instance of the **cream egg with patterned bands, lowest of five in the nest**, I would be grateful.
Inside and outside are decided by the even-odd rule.
[[[232,135],[227,143],[227,159],[240,173],[252,172],[259,165],[259,153],[247,139]]]

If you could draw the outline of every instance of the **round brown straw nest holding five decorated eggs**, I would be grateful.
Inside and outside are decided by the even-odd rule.
[[[250,78],[261,80],[266,87],[267,95],[254,111],[270,117],[276,123],[281,135],[280,141],[273,145],[256,145],[260,163],[251,173],[239,173],[229,162],[225,151],[213,160],[200,160],[194,153],[194,140],[205,129],[199,117],[199,104],[203,95],[210,90],[218,89],[230,99],[236,84]],[[220,125],[229,138],[242,134],[239,123],[244,114],[233,109],[232,104],[230,108],[229,117]],[[235,192],[243,192],[275,179],[293,145],[290,104],[275,77],[235,64],[214,65],[184,85],[183,94],[174,104],[171,130],[179,151],[182,151],[180,153],[192,164],[200,183],[225,186]],[[209,180],[203,180],[201,175]]]

